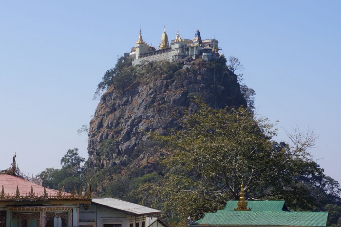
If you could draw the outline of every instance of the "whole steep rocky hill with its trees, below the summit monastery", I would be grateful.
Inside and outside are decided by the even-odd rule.
[[[96,197],[162,209],[170,223],[186,225],[188,216],[238,199],[243,181],[249,199],[332,210],[331,224],[339,225],[340,185],[308,152],[316,138],[298,131],[292,144],[273,141],[273,125],[253,114],[254,91],[235,74],[239,60],[226,63],[188,58],[133,66],[119,58],[97,86],[89,128],[80,129],[89,133],[84,167],[76,148],[69,150],[60,170],[41,173],[43,185],[81,190],[92,179]]]

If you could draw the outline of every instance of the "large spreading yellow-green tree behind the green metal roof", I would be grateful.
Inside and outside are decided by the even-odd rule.
[[[278,144],[271,140],[276,130],[266,119],[244,108],[215,110],[196,103],[198,111],[185,116],[182,130],[155,136],[167,143],[166,175],[139,188],[143,203],[185,225],[188,216],[199,219],[227,200],[238,200],[244,182],[252,199],[287,200],[290,207],[308,210],[321,206],[314,196],[328,192],[323,169],[307,152],[313,143],[303,143],[301,137],[301,145]]]

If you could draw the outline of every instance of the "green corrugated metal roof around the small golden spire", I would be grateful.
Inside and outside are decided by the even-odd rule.
[[[251,211],[233,210],[237,201],[229,201],[223,210],[206,213],[200,226],[309,226],[325,227],[327,212],[298,212],[286,208],[284,201],[248,201]]]

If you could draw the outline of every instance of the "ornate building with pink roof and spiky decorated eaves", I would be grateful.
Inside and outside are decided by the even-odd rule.
[[[12,166],[0,171],[0,227],[79,226],[79,206],[90,206],[90,191],[66,193],[45,188]]]

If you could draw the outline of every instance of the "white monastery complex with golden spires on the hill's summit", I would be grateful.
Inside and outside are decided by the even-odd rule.
[[[124,53],[124,57],[131,57],[133,65],[139,64],[142,61],[153,62],[167,60],[176,62],[179,59],[189,56],[193,59],[201,56],[204,61],[210,61],[219,58],[220,56],[224,56],[222,53],[218,53],[219,50],[221,51],[216,39],[201,39],[199,27],[195,32],[193,40],[182,39],[179,35],[179,31],[177,31],[175,39],[169,42],[165,26],[161,36],[161,42],[157,49],[148,45],[146,41],[143,41],[142,32],[140,30],[136,45],[132,48],[130,53]]]

